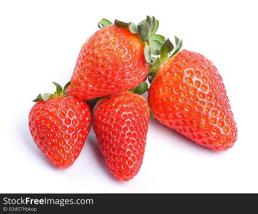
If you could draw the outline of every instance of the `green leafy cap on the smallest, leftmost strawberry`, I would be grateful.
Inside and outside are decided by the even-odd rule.
[[[71,84],[71,81],[67,82],[67,84],[65,84],[64,89],[62,89],[62,87],[56,83],[56,82],[52,82],[54,83],[54,85],[56,86],[56,91],[54,94],[49,94],[49,93],[45,93],[43,95],[39,94],[37,96],[37,98],[35,100],[33,100],[33,102],[38,102],[38,101],[45,101],[45,100],[50,100],[52,98],[55,97],[67,97],[68,93],[67,93],[67,87]]]

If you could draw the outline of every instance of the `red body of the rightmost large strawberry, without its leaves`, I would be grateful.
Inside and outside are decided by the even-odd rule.
[[[237,140],[237,127],[223,80],[205,56],[182,50],[153,79],[148,103],[160,123],[199,145],[223,151]]]

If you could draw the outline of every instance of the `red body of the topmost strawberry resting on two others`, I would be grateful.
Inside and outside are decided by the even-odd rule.
[[[82,46],[74,69],[71,94],[80,100],[132,89],[146,77],[145,43],[127,28],[108,26]]]

